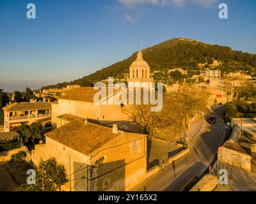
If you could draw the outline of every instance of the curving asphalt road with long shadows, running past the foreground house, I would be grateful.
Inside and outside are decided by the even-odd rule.
[[[214,106],[212,110],[216,115],[216,124],[206,124],[202,135],[195,139],[191,152],[145,180],[134,191],[180,191],[189,180],[202,176],[212,163],[226,134],[223,108]]]

